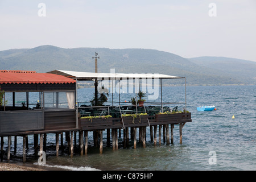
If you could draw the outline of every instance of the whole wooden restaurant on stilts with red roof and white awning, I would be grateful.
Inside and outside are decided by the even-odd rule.
[[[185,102],[164,102],[162,80],[183,79]],[[142,81],[146,80],[146,81]],[[91,81],[95,85],[94,104],[78,98],[78,82]],[[134,85],[134,102],[121,102],[122,82]],[[102,86],[104,82],[104,86]],[[118,84],[117,84],[117,83]],[[158,86],[160,102],[144,102],[142,84],[154,82]],[[100,87],[99,87],[100,86]],[[101,104],[104,92],[109,94],[119,90],[119,102]],[[22,94],[23,101],[16,98]],[[37,98],[37,103],[30,102],[30,96]],[[1,98],[2,97],[2,98]],[[137,98],[138,97],[138,98]],[[8,100],[6,99],[8,98]],[[93,132],[93,142],[103,153],[103,135],[106,134],[108,146],[113,150],[118,146],[126,147],[137,141],[146,147],[146,128],[150,128],[150,139],[155,145],[161,143],[161,137],[167,144],[174,143],[174,125],[179,126],[180,143],[182,129],[186,122],[192,122],[187,111],[186,78],[162,74],[125,74],[125,73],[90,73],[55,70],[48,73],[34,71],[0,71],[0,137],[1,161],[3,161],[4,137],[8,138],[7,161],[10,161],[11,137],[23,137],[23,162],[26,162],[28,135],[34,136],[35,153],[44,151],[47,134],[56,134],[56,156],[59,156],[59,144],[63,145],[63,134],[68,143],[71,157],[79,133],[80,155],[88,153],[88,132]],[[181,111],[176,105],[181,105]],[[171,107],[175,106],[175,107]],[[130,132],[130,134],[129,134]],[[158,138],[157,138],[158,132]],[[118,137],[123,142],[118,143]],[[137,135],[138,133],[138,135]],[[119,135],[118,135],[119,134]],[[137,138],[138,136],[138,138]],[[157,143],[158,140],[158,143]],[[38,151],[39,150],[39,151]]]

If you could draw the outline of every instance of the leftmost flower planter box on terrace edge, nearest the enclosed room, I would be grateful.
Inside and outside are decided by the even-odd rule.
[[[98,129],[101,129],[100,126],[109,126],[113,125],[113,118],[93,118],[90,119],[79,119],[79,127],[82,129],[85,129],[86,127],[97,127]]]

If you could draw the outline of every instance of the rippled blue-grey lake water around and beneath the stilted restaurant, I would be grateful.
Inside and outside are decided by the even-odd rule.
[[[167,102],[185,101],[184,93],[184,87],[163,87],[163,98]],[[129,101],[131,95],[122,93],[121,101]],[[80,100],[92,96],[93,89],[79,89]],[[109,101],[112,101],[111,94]],[[118,101],[117,94],[114,101]],[[215,105],[217,110],[197,111],[196,107],[201,105]],[[88,155],[78,155],[75,148],[73,158],[66,152],[57,158],[55,135],[48,134],[47,167],[69,170],[255,170],[255,105],[256,86],[187,86],[187,110],[192,113],[192,122],[183,127],[183,144],[179,144],[178,125],[174,128],[174,144],[167,145],[162,141],[161,146],[150,142],[148,127],[146,148],[138,142],[135,150],[132,143],[129,148],[122,148],[121,137],[118,150],[112,151],[112,147],[105,145],[105,131],[104,154],[100,155],[98,148],[93,147],[92,132],[89,132]],[[184,104],[178,106],[183,109]],[[29,136],[29,141],[27,164],[37,167],[38,157],[34,155],[32,136]],[[11,149],[14,162],[22,160],[21,137],[18,137],[18,146],[15,155]],[[7,150],[7,145],[5,147]]]

